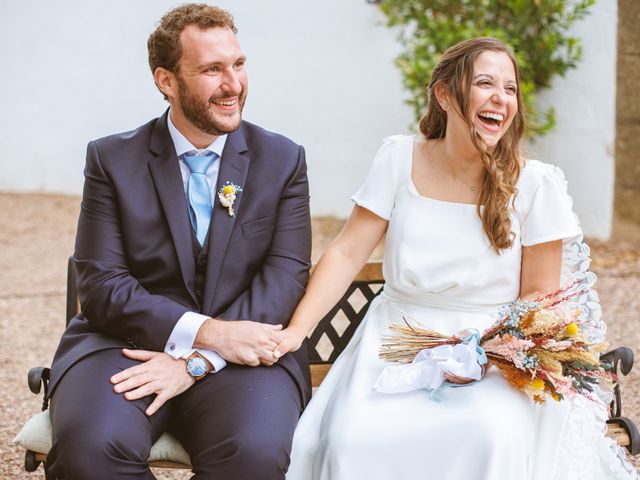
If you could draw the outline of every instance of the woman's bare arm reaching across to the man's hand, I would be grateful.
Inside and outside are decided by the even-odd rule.
[[[320,259],[289,326],[281,332],[282,341],[273,352],[276,359],[300,348],[307,334],[344,295],[382,239],[387,225],[385,219],[366,208],[354,207],[344,228]]]

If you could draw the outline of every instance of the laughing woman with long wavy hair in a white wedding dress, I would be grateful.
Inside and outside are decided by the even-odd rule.
[[[444,53],[422,138],[385,140],[274,352],[299,348],[386,235],[383,292],[305,410],[287,479],[634,478],[602,434],[602,405],[535,407],[495,368],[439,402],[372,388],[382,337],[403,315],[444,334],[482,331],[518,298],[593,282],[575,267],[588,257],[563,174],[522,157],[524,127],[505,45],[476,38]],[[586,315],[604,329],[593,304]]]

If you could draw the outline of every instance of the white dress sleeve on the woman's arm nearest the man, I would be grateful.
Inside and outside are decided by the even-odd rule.
[[[403,178],[411,175],[412,149],[412,137],[397,135],[386,138],[373,159],[364,185],[351,200],[389,220],[398,186]]]

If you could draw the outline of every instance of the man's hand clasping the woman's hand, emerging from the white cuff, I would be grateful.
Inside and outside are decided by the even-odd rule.
[[[257,367],[273,365],[273,350],[282,339],[282,325],[249,320],[206,320],[193,342],[194,348],[213,350],[229,362]]]

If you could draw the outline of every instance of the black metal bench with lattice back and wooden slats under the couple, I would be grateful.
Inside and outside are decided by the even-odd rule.
[[[384,280],[382,278],[381,262],[367,263],[349,286],[342,299],[320,321],[309,336],[309,358],[311,363],[312,386],[320,385],[329,371],[331,364],[338,358],[345,346],[351,340],[353,333],[362,321],[371,301],[380,292]],[[78,312],[79,304],[76,294],[76,272],[73,259],[69,259],[67,271],[67,323]],[[602,355],[601,361],[607,369],[616,374],[627,375],[633,367],[633,352],[626,347],[615,348]],[[29,389],[39,394],[41,391],[46,398],[49,385],[49,369],[36,367],[29,370]],[[607,435],[619,445],[624,446],[632,454],[640,451],[640,435],[636,425],[622,415],[622,397],[620,385],[614,386],[614,399],[610,405],[610,418]],[[46,399],[42,403],[42,410],[48,408]],[[47,452],[27,450],[25,453],[25,469],[36,471],[41,463],[46,463]],[[152,461],[152,467],[186,468],[187,463],[174,461]]]

